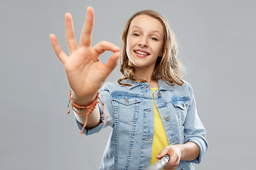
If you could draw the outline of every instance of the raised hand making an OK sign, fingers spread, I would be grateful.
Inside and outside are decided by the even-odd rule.
[[[91,46],[93,23],[94,11],[89,6],[78,45],[75,38],[72,16],[70,13],[65,13],[65,33],[70,52],[69,57],[61,49],[55,35],[50,35],[53,50],[65,68],[74,101],[80,105],[86,105],[93,101],[97,91],[104,84],[114,67],[117,66],[117,60],[120,55],[119,47],[110,42],[102,41],[94,47]],[[106,50],[114,53],[103,64],[100,62],[99,57]]]

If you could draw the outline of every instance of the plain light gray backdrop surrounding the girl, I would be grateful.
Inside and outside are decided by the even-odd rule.
[[[132,13],[153,9],[178,39],[184,77],[194,89],[209,149],[196,169],[254,169],[255,1],[0,2],[0,169],[97,169],[110,128],[80,136],[68,111],[68,82],[48,35],[65,52],[64,13],[77,38],[95,8],[92,45],[120,45]],[[102,55],[105,62],[111,53]],[[118,79],[115,69],[109,80]]]

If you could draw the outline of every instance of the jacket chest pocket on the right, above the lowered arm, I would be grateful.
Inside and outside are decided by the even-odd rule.
[[[190,98],[189,97],[181,97],[176,98],[176,100],[171,102],[176,108],[178,122],[180,125],[183,125],[186,119],[188,107],[190,106]]]

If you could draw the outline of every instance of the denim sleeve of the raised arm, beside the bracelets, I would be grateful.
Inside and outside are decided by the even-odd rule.
[[[111,96],[110,96],[110,91],[107,89],[107,85],[103,85],[102,88],[100,89],[100,100],[102,100],[102,103],[104,103],[104,111],[106,114],[106,124],[104,125],[104,114],[103,114],[103,108],[102,108],[102,104],[98,103],[97,105],[100,108],[100,124],[97,125],[95,128],[92,128],[90,130],[87,130],[86,128],[82,131],[83,134],[85,135],[92,135],[96,132],[100,132],[100,130],[102,130],[103,128],[110,126],[113,127],[114,126],[114,111],[113,111],[113,107],[112,107],[112,100],[111,100]],[[98,99],[99,100],[99,99]],[[80,130],[82,130],[82,125],[78,122],[78,120],[76,120],[76,123],[78,125],[78,128]]]

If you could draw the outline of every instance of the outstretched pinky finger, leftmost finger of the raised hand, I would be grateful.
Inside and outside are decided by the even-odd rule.
[[[55,54],[57,55],[58,59],[60,60],[60,62],[62,62],[64,64],[65,59],[68,56],[61,49],[60,44],[59,44],[57,38],[55,37],[55,35],[50,34],[50,42],[51,42],[51,45],[53,46],[53,50],[54,50]]]

